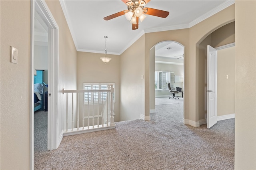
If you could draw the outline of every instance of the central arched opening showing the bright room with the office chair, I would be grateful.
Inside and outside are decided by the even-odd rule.
[[[167,76],[165,80],[159,79],[159,75],[163,72]],[[180,79],[175,81],[175,78]],[[150,113],[155,113],[155,105],[161,104],[158,101],[164,101],[162,104],[176,102],[176,99],[169,99],[172,94],[168,90],[167,83],[170,81],[175,89],[181,88],[182,92],[179,96],[183,102],[184,46],[175,41],[163,41],[150,49]],[[156,102],[156,97],[161,99]]]

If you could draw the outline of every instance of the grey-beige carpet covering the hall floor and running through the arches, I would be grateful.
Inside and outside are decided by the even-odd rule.
[[[210,129],[194,128],[182,123],[182,106],[156,105],[151,121],[117,122],[115,129],[64,136],[56,150],[35,150],[34,168],[234,169],[234,119],[218,121]]]

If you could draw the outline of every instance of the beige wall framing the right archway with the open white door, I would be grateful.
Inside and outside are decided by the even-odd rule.
[[[201,89],[199,89],[199,44],[210,35],[212,32],[217,30],[218,28],[233,22],[235,19],[234,5],[229,6],[228,8],[218,12],[217,14],[207,18],[206,20],[196,24],[195,26],[189,29],[190,31],[190,44],[189,44],[189,73],[188,81],[189,81],[189,122],[190,125],[199,126],[199,99],[198,93]],[[187,66],[186,66],[187,67]],[[186,69],[185,67],[185,69]],[[186,81],[186,73],[185,73],[185,81]],[[186,86],[185,86],[186,90]],[[188,95],[188,93],[186,93]],[[185,96],[186,97],[186,96]],[[186,115],[185,110],[185,115]],[[185,118],[186,119],[186,118]],[[186,121],[186,120],[185,120]]]

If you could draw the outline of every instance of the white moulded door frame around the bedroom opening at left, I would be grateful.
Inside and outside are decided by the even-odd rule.
[[[34,18],[35,11],[48,26],[48,150],[58,147],[59,28],[44,0],[30,1],[30,169],[34,169]],[[50,95],[51,94],[51,95]],[[50,96],[51,97],[50,97]]]

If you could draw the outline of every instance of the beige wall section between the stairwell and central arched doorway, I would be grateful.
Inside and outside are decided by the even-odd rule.
[[[120,121],[140,119],[145,113],[144,48],[145,35],[120,56]]]

